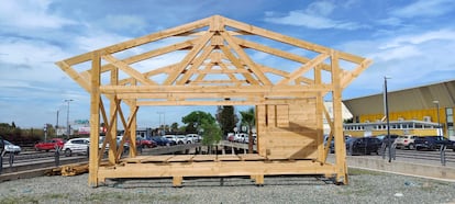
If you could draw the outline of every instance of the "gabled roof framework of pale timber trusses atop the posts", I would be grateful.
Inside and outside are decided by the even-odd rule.
[[[242,38],[251,35],[290,45],[301,53],[317,55],[311,58],[263,45],[247,37]],[[125,50],[136,47],[141,50],[143,45],[159,45],[160,42],[173,38],[185,41],[140,54],[134,50],[135,55],[122,55],[127,53]],[[248,55],[248,50],[298,63],[300,66],[284,70],[280,67],[263,65],[255,60],[254,56]],[[57,65],[88,92],[92,73],[90,64],[87,63],[92,60],[93,53],[101,57],[101,75],[123,73],[119,76],[121,78],[118,81],[101,81],[100,93],[116,95],[118,99],[137,100],[140,106],[217,105],[224,103],[226,98],[233,104],[265,103],[265,99],[269,98],[307,98],[333,89],[331,81],[314,80],[317,72],[331,75],[333,60],[345,60],[355,65],[352,70],[341,69],[342,89],[371,63],[358,56],[219,15],[58,61]],[[334,59],[335,53],[337,59]],[[181,60],[173,61],[173,57],[177,55],[184,57],[180,57]],[[135,68],[141,61],[159,60],[162,57],[167,57],[167,65],[146,64],[149,67],[144,71]],[[88,67],[78,71],[75,67],[82,64]]]

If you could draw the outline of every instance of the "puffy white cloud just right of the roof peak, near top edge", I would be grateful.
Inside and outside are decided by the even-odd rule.
[[[304,11],[290,11],[285,16],[276,16],[274,12],[266,12],[266,22],[276,24],[287,24],[306,26],[309,29],[339,29],[339,30],[357,30],[363,27],[354,22],[335,21],[329,18],[335,5],[328,1],[318,1],[309,4]]]

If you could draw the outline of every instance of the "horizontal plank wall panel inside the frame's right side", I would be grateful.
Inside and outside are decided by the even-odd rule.
[[[287,103],[256,106],[258,154],[268,159],[315,159],[317,133],[322,132],[317,127],[315,99]]]

